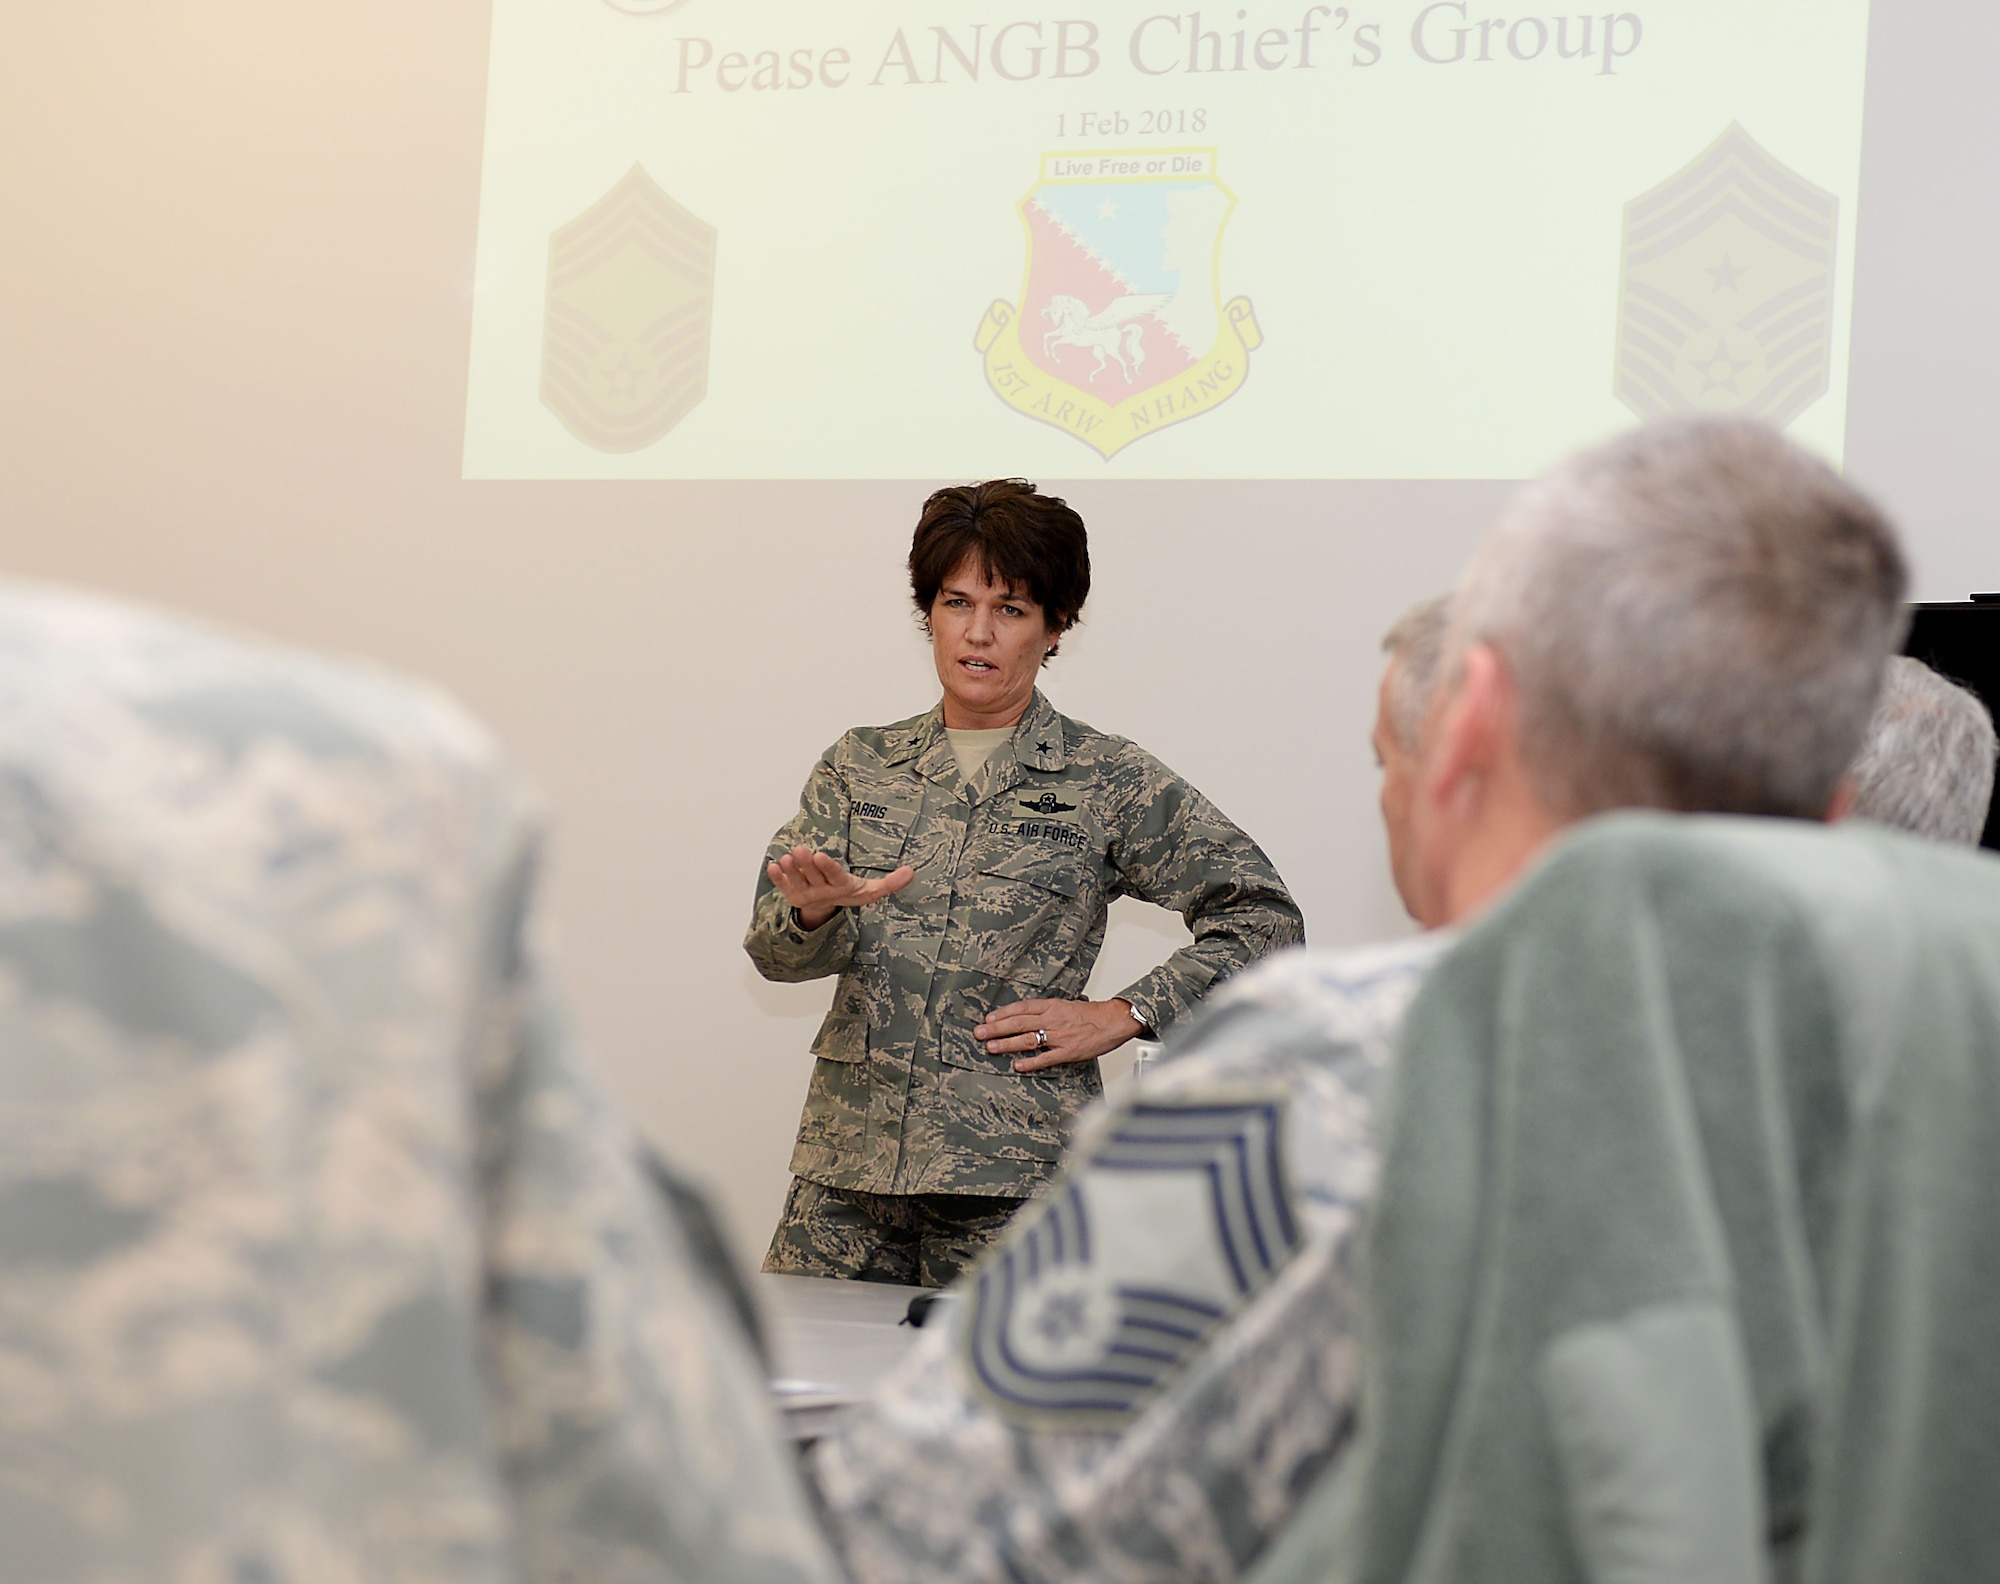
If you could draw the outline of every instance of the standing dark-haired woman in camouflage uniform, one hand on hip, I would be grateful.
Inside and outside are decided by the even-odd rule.
[[[826,750],[744,950],[770,980],[840,976],[764,1268],[944,1286],[1054,1174],[1098,1056],[1304,928],[1222,810],[1034,686],[1090,592],[1074,510],[1022,480],[940,490],[910,592],[944,698]],[[1082,1000],[1114,896],[1194,940]]]

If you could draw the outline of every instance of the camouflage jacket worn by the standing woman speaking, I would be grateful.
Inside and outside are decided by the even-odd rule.
[[[1166,1032],[1220,978],[1304,938],[1264,852],[1124,738],[1040,692],[966,784],[942,706],[826,750],[772,840],[856,874],[916,878],[806,932],[760,878],[744,950],[772,980],[840,974],[792,1172],[876,1194],[1032,1194],[1064,1126],[1102,1092],[1096,1062],[1034,1074],[972,1038],[996,1006],[1084,994],[1114,896],[1174,908],[1194,942],[1118,992]]]

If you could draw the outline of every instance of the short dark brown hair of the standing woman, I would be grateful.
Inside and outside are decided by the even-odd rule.
[[[1056,632],[1076,626],[1090,598],[1084,520],[1026,478],[954,484],[924,502],[910,540],[910,596],[926,630],[938,590],[968,556],[978,556],[986,582],[1020,590],[1042,606]]]

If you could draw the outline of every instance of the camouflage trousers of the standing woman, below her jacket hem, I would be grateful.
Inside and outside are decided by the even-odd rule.
[[[764,1270],[950,1286],[1026,1202],[996,1194],[862,1194],[792,1178]]]

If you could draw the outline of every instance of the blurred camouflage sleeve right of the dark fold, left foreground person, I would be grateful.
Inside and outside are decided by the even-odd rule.
[[[518,946],[478,1072],[492,1434],[528,1580],[836,1578],[754,1344]]]

